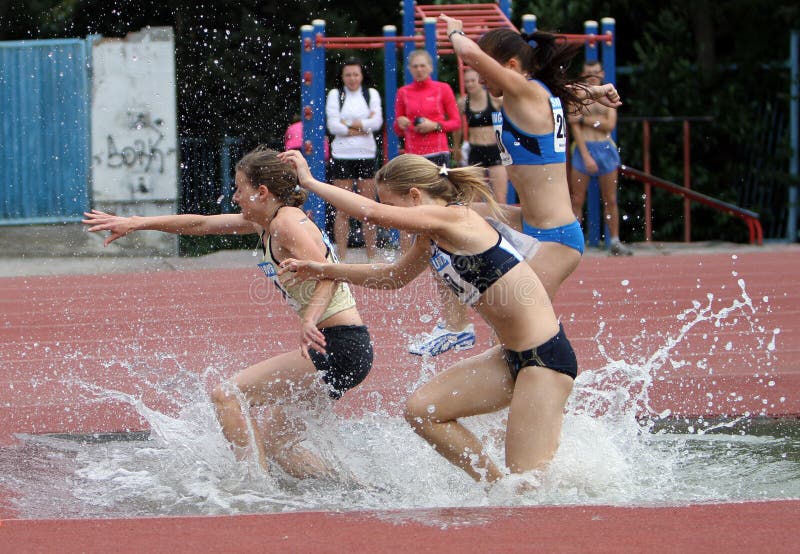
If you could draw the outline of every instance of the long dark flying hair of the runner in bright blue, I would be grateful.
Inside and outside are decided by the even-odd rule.
[[[536,41],[536,46],[529,41]],[[570,62],[583,48],[582,44],[570,44],[565,38],[545,31],[517,33],[503,28],[483,35],[478,46],[501,64],[516,57],[522,69],[547,85],[565,107],[585,102],[575,93],[576,88],[582,87],[580,80],[567,77]]]

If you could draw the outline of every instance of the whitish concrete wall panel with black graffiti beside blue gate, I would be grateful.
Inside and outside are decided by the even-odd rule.
[[[155,27],[92,47],[92,204],[119,215],[174,214],[178,118],[172,29]],[[113,243],[105,253],[177,253],[158,232]],[[143,249],[143,250],[142,250]]]

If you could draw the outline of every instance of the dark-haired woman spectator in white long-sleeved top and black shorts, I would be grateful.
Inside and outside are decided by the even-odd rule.
[[[337,88],[328,93],[325,115],[328,132],[333,135],[333,184],[351,190],[355,183],[362,195],[374,200],[377,145],[373,133],[383,125],[381,97],[369,87],[364,64],[358,58],[349,58],[342,64]],[[333,229],[336,249],[344,260],[350,233],[349,216],[337,211]],[[367,256],[372,260],[377,255],[377,229],[366,224],[363,229]]]

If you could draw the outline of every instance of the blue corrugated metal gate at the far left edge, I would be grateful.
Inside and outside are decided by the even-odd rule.
[[[0,42],[0,225],[88,208],[90,54],[80,39]]]

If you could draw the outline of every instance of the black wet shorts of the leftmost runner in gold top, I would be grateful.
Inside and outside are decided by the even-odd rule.
[[[334,325],[320,329],[325,337],[325,354],[308,349],[308,355],[322,380],[330,387],[331,398],[358,385],[372,369],[372,340],[365,325]]]

